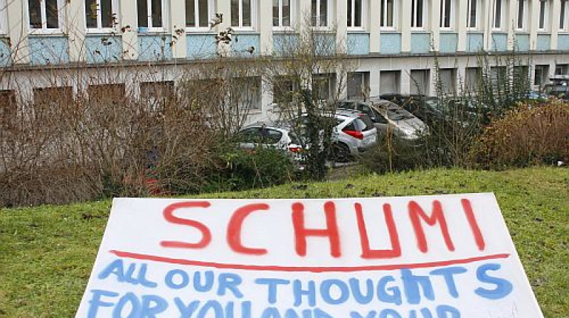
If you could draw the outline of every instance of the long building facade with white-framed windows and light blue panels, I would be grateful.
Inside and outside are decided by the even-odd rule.
[[[568,74],[568,6],[567,0],[0,0],[0,97],[38,99],[55,87],[77,95],[105,84],[41,76],[18,82],[47,69],[109,72],[120,65],[109,76],[134,94],[175,85],[176,67],[218,56],[216,35],[229,27],[238,38],[231,50],[244,57],[277,53],[283,38],[301,28],[328,34],[356,62],[347,97],[432,95],[435,56],[440,79],[453,88],[479,74],[481,54],[514,50],[528,57],[538,88],[550,75]],[[155,80],[129,79],[156,67]],[[270,114],[265,88],[252,103],[256,119]]]

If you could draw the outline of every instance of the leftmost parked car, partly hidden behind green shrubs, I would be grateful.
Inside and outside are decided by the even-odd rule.
[[[273,147],[285,150],[296,163],[302,163],[303,147],[295,133],[286,126],[257,122],[243,127],[235,136],[239,148]]]

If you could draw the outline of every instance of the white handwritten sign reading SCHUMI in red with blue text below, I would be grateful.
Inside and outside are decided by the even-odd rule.
[[[493,194],[115,199],[76,317],[543,317]]]

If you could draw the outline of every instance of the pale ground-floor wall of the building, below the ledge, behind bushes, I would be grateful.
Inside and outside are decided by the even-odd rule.
[[[378,97],[385,93],[437,94],[437,78],[449,92],[471,84],[481,70],[481,64],[503,67],[510,55],[363,55],[350,57],[351,72],[341,98]],[[519,67],[525,67],[533,89],[540,89],[551,75],[569,74],[569,55],[555,53],[519,54],[513,57]],[[250,62],[247,62],[250,63]],[[243,66],[243,65],[242,65]],[[216,62],[176,62],[90,65],[67,67],[6,67],[0,69],[0,99],[19,99],[31,102],[41,98],[45,89],[60,89],[66,98],[87,97],[100,88],[117,89],[119,94],[146,96],[160,89],[174,89],[188,75],[203,79],[208,67]],[[245,63],[245,69],[247,65]],[[251,67],[252,69],[252,67]],[[254,82],[244,89],[256,87],[248,103],[249,121],[274,120],[278,114],[273,103],[271,84],[254,71],[243,72]],[[334,80],[328,82],[335,84]],[[107,85],[105,87],[105,85]],[[334,87],[329,87],[332,92]],[[0,104],[6,104],[6,100]],[[25,103],[24,103],[25,104]]]

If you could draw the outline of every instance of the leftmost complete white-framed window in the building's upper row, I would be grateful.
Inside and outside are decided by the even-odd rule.
[[[57,30],[63,22],[63,0],[28,0],[30,28]]]

